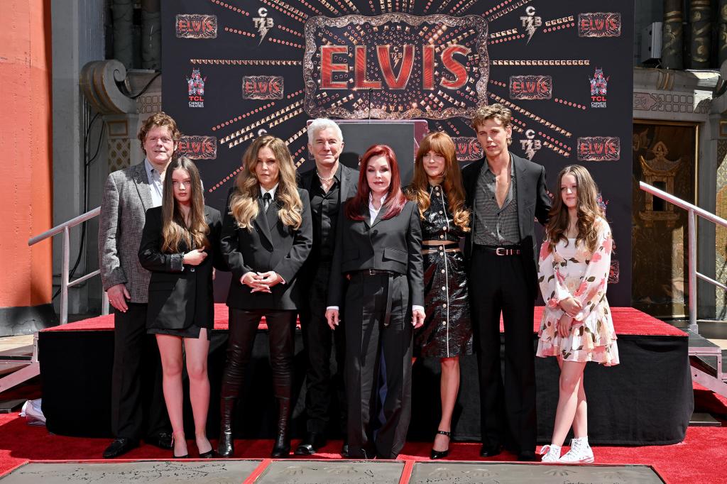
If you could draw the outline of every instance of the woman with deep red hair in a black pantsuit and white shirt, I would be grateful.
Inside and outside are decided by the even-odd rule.
[[[326,310],[329,326],[341,322],[345,331],[350,458],[395,459],[406,441],[411,336],[425,319],[422,281],[419,209],[401,192],[393,150],[371,146],[337,225]]]

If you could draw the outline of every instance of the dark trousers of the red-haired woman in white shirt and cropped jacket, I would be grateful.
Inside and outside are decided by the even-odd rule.
[[[348,451],[352,458],[395,459],[411,419],[409,284],[395,276],[354,275],[346,291]],[[391,291],[389,326],[383,326]],[[337,331],[341,331],[339,328]]]

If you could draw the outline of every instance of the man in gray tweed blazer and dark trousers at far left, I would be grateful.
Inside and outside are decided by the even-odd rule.
[[[158,349],[146,334],[150,273],[140,265],[138,253],[145,212],[161,205],[164,172],[180,135],[165,113],[150,116],[139,131],[145,160],[108,175],[103,190],[99,265],[103,289],[115,308],[111,430],[116,438],[103,453],[106,459],[137,447],[142,437],[172,448]],[[153,381],[142,384],[142,379]]]

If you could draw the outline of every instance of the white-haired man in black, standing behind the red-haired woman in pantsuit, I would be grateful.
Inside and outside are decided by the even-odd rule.
[[[299,456],[313,455],[326,444],[326,427],[332,398],[338,400],[339,427],[346,428],[343,364],[345,338],[343,331],[331,331],[326,322],[326,299],[331,273],[336,222],[347,198],[356,194],[358,172],[340,163],[343,135],[340,127],[326,118],[318,118],[308,126],[308,150],[316,159],[316,167],[300,177],[299,186],[308,190],[313,215],[313,251],[303,270],[302,280],[308,297],[300,308],[300,326],[308,354],[306,370],[305,410],[308,414],[305,438],[295,450]],[[336,358],[336,371],[331,372],[331,354]],[[347,453],[344,440],[342,453]]]

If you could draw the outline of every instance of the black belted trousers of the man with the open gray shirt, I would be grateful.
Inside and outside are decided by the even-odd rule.
[[[480,376],[482,443],[504,443],[515,453],[534,452],[534,294],[520,256],[498,256],[473,247],[470,302]],[[505,326],[505,384],[500,368],[499,320]]]

